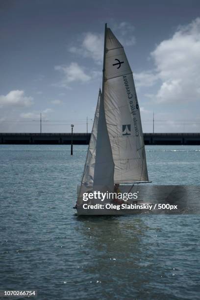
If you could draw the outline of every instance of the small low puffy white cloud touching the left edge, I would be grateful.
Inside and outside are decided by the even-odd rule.
[[[0,105],[3,106],[30,106],[33,104],[32,97],[26,97],[24,91],[14,90],[7,95],[0,95]]]

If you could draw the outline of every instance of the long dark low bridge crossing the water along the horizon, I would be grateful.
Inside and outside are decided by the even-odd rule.
[[[200,145],[200,133],[144,133],[146,145]],[[90,133],[73,133],[74,145],[87,145]],[[71,133],[0,133],[0,144],[71,144]]]

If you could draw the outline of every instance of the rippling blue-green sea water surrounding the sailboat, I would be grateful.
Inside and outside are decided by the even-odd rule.
[[[0,145],[0,289],[200,299],[200,216],[76,217],[87,146]],[[200,184],[200,146],[147,146],[152,184]]]

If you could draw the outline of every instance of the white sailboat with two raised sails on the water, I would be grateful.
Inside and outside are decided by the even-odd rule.
[[[105,209],[83,209],[84,193],[113,192],[115,184],[150,182],[133,74],[122,44],[105,24],[102,92],[99,91],[94,124],[81,185],[77,214],[115,214]],[[109,202],[109,200],[107,200]],[[90,200],[90,204],[100,200]]]

